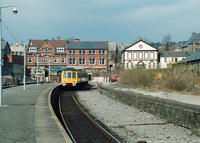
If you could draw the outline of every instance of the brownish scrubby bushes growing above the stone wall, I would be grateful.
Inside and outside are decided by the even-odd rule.
[[[169,69],[135,68],[121,70],[120,83],[133,87],[147,87],[159,90],[175,90],[193,92],[195,89],[195,74],[190,65],[176,65]],[[162,73],[162,79],[155,79],[156,73]]]

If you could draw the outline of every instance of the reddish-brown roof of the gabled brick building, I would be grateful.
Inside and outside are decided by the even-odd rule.
[[[53,47],[66,47],[67,40],[30,40],[30,47],[41,47],[45,42],[49,42]]]

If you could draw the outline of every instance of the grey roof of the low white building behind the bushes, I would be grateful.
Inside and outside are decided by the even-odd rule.
[[[188,54],[185,51],[162,51],[160,57],[187,57]]]

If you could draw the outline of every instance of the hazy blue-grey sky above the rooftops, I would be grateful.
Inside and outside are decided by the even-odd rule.
[[[138,38],[187,41],[200,32],[200,0],[0,0],[2,37],[9,44],[33,40],[111,41]],[[13,35],[13,36],[12,36]],[[14,38],[13,38],[14,37]]]

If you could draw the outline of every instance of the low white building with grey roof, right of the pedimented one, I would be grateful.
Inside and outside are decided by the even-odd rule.
[[[171,68],[172,64],[181,61],[187,56],[185,51],[163,51],[160,53],[160,68]]]

